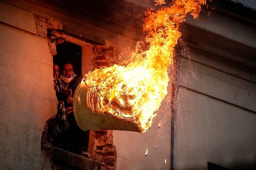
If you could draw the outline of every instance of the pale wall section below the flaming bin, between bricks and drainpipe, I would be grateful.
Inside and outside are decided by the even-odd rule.
[[[167,97],[147,133],[113,130],[117,169],[170,169],[170,124],[171,103]]]

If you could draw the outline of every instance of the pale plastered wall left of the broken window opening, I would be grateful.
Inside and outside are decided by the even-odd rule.
[[[31,12],[0,2],[0,167],[52,169],[41,152],[45,122],[56,113],[52,55]]]

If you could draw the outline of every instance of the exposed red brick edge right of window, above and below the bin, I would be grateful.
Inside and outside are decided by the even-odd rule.
[[[106,41],[106,45],[94,47],[94,68],[108,67],[120,62],[117,44]],[[112,130],[95,130],[90,133],[89,154],[101,162],[102,170],[115,169],[117,150],[113,144]]]

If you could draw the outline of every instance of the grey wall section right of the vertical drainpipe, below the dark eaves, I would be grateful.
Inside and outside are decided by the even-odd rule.
[[[195,55],[193,59],[200,58],[200,54]],[[215,67],[209,68],[181,60],[177,169],[207,169],[207,162],[230,169],[255,168],[255,111],[238,104],[247,105],[247,109],[255,107],[256,85],[236,78],[237,74],[216,70],[223,62],[208,63]],[[193,66],[187,67],[188,63]]]

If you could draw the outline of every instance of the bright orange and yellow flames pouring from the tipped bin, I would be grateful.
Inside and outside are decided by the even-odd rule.
[[[137,43],[130,63],[96,69],[84,75],[78,88],[88,89],[88,108],[95,114],[125,119],[136,124],[141,133],[147,132],[167,95],[167,70],[173,63],[174,47],[181,36],[179,26],[188,13],[198,17],[205,1],[176,0],[169,8],[148,10],[143,26],[147,33],[145,43]],[[142,46],[146,44],[148,49],[143,51]]]

